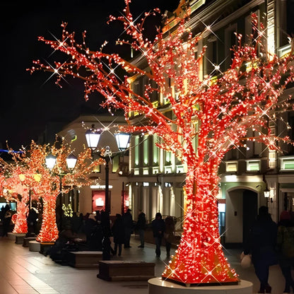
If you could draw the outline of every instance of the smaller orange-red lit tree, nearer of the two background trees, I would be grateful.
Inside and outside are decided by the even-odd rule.
[[[42,175],[36,189],[38,196],[43,199],[42,225],[37,241],[54,242],[58,238],[56,223],[56,201],[59,194],[69,192],[73,187],[90,185],[90,173],[96,165],[104,163],[103,160],[92,160],[90,149],[84,149],[78,154],[76,166],[70,170],[66,165],[66,158],[72,153],[71,147],[62,142],[57,148],[53,146],[31,145],[30,168]],[[45,165],[46,157],[52,154],[56,157],[56,164],[49,170]],[[32,160],[33,159],[33,160]]]

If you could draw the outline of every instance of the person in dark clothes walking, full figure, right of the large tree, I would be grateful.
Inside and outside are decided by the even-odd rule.
[[[277,264],[276,238],[277,224],[271,219],[269,208],[261,206],[257,220],[249,232],[249,239],[245,242],[244,254],[252,254],[252,264],[255,274],[259,278],[258,293],[271,293],[269,285],[269,266]]]

